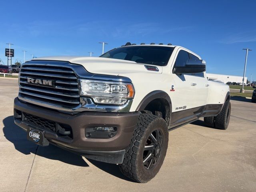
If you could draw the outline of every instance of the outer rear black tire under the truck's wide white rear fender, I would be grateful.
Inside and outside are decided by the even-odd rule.
[[[221,112],[215,117],[215,128],[217,129],[227,129],[230,120],[231,104],[229,101],[224,103]]]

